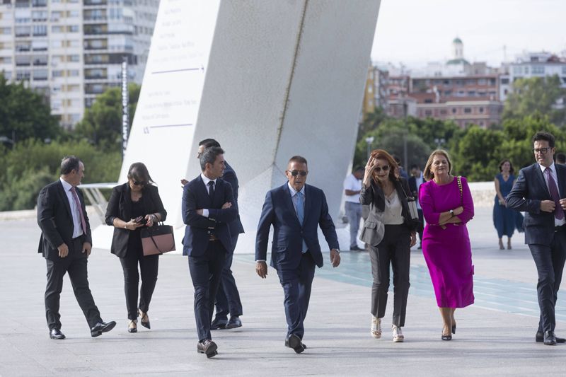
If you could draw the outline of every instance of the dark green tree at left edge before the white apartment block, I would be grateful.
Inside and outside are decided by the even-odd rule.
[[[0,120],[0,136],[14,141],[56,139],[62,134],[45,98],[25,88],[23,83],[8,83],[3,74],[0,74]]]

